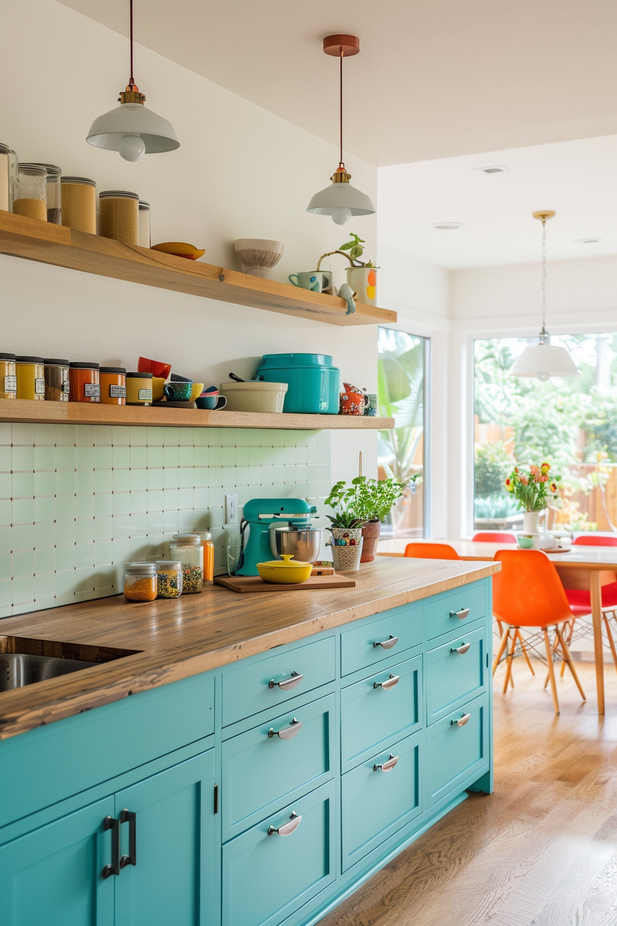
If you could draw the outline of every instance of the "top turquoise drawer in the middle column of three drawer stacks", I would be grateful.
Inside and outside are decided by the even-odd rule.
[[[422,643],[422,605],[405,605],[340,634],[340,674],[350,675]],[[392,643],[392,641],[395,641]]]

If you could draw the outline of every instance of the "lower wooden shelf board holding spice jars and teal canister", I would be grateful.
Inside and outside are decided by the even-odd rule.
[[[173,428],[278,428],[294,431],[371,431],[394,427],[394,419],[359,415],[273,415],[202,408],[89,405],[0,399],[0,421],[29,424],[119,424]]]

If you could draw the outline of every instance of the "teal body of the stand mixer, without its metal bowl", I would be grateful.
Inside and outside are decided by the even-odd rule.
[[[240,566],[236,575],[256,576],[257,563],[273,559],[270,524],[307,525],[316,512],[303,498],[252,498],[244,506],[240,526]],[[246,530],[249,529],[248,540]]]

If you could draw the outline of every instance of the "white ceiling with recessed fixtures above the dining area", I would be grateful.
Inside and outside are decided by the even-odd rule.
[[[501,165],[508,172],[480,168]],[[617,254],[617,135],[439,158],[379,171],[380,248],[450,269]],[[435,223],[462,222],[439,231]],[[583,238],[598,237],[598,244]],[[381,259],[381,258],[380,258]]]

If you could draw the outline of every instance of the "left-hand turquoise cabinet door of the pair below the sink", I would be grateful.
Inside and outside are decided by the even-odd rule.
[[[106,797],[0,848],[2,926],[113,926],[117,878],[101,875],[113,813]]]

